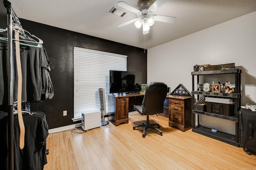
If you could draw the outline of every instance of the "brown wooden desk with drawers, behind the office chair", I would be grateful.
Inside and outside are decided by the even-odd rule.
[[[108,95],[108,120],[115,126],[128,123],[129,112],[134,111],[134,105],[142,104],[143,98],[144,94]],[[168,100],[169,126],[176,126],[181,131],[190,129],[192,127],[192,97],[167,94],[166,100]]]

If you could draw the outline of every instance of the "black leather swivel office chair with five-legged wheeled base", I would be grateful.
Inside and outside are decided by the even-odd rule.
[[[164,112],[164,100],[167,94],[167,85],[162,82],[151,82],[146,85],[145,95],[142,101],[142,105],[134,105],[134,110],[138,111],[141,115],[147,115],[146,122],[143,121],[142,125],[136,125],[133,127],[145,127],[142,137],[146,136],[146,131],[148,128],[155,129],[162,136],[163,133],[154,126],[160,125],[158,123],[150,124],[149,115],[155,115]]]

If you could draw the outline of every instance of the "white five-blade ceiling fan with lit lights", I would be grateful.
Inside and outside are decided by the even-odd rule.
[[[147,34],[149,33],[150,26],[152,26],[155,21],[174,23],[174,21],[177,20],[176,17],[154,15],[154,12],[166,2],[168,2],[168,0],[156,0],[151,6],[149,6],[149,0],[142,0],[140,3],[142,6],[139,9],[136,9],[123,1],[117,2],[118,6],[134,12],[138,16],[138,18],[126,21],[117,26],[123,27],[134,22],[137,28],[140,28],[142,25],[143,34]]]

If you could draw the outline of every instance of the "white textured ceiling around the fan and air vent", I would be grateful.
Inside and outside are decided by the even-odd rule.
[[[133,23],[117,27],[137,17],[117,6],[118,1],[121,0],[10,0],[18,18],[146,49],[256,11],[256,0],[169,0],[154,14],[174,16],[177,21],[156,21],[144,36],[142,28]],[[138,9],[141,0],[122,1]],[[150,0],[150,5],[154,1]],[[2,6],[0,13],[6,14]],[[112,7],[127,14],[123,18],[116,16],[109,12]]]

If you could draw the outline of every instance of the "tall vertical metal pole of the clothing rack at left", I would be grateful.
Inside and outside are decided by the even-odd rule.
[[[4,0],[8,17],[8,166],[14,169],[14,123],[13,123],[13,51],[12,51],[12,6],[8,0]]]

